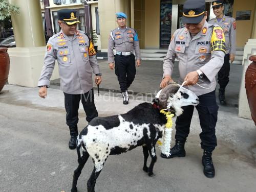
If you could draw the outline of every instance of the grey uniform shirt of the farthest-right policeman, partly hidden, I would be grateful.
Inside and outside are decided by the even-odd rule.
[[[217,18],[214,18],[209,20],[208,23],[219,25],[223,29],[226,39],[226,54],[236,54],[236,19],[224,15],[220,22]]]

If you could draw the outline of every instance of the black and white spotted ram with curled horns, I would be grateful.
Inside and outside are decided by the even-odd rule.
[[[178,92],[177,92],[178,91]],[[166,117],[160,109],[171,109],[176,115],[182,114],[182,106],[197,105],[196,94],[177,83],[170,83],[160,90],[152,103],[142,103],[125,114],[94,118],[78,135],[78,167],[73,175],[71,192],[77,191],[77,180],[89,156],[94,169],[87,182],[89,192],[94,191],[96,179],[109,155],[116,155],[142,146],[143,170],[154,176],[153,166],[157,160],[156,142],[163,135]],[[82,155],[80,148],[82,147]],[[148,154],[152,160],[147,167]]]

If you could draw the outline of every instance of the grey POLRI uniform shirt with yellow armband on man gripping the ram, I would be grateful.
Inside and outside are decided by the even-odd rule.
[[[191,39],[189,31],[182,27],[178,29],[168,47],[168,52],[163,61],[163,77],[172,76],[174,61],[179,60],[180,79],[182,83],[186,75],[191,71],[200,69],[204,78],[198,80],[198,85],[186,86],[198,96],[211,92],[216,88],[218,71],[224,62],[225,37],[222,28],[209,25],[206,21],[201,32]]]

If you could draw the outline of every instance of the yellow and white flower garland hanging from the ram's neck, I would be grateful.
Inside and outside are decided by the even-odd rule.
[[[165,129],[163,131],[163,143],[158,140],[157,143],[160,146],[161,152],[165,154],[167,157],[170,155],[170,142],[172,142],[172,127],[173,127],[173,116],[174,114],[169,111],[166,112],[163,109],[160,113],[165,114],[167,123],[165,124]]]

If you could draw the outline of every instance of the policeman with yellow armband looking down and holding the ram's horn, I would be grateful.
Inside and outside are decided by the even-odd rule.
[[[163,61],[163,80],[161,88],[172,81],[175,58],[179,59],[180,83],[194,91],[199,98],[196,106],[202,132],[200,133],[201,148],[204,150],[202,164],[204,175],[215,176],[215,168],[211,154],[217,146],[215,126],[217,123],[218,105],[216,104],[215,88],[218,71],[225,56],[225,37],[221,27],[209,25],[206,21],[204,0],[187,0],[183,6],[182,20],[185,26],[178,29],[168,47]],[[186,95],[184,95],[186,97]],[[183,114],[176,120],[176,144],[170,149],[170,155],[161,154],[163,158],[184,157],[184,145],[189,134],[194,106],[183,108]]]

